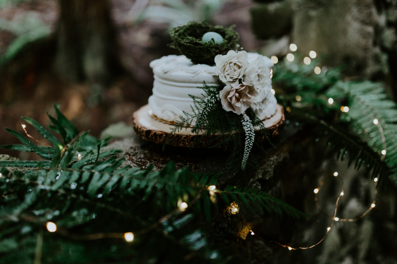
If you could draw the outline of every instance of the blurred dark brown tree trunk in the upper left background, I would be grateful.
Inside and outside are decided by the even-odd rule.
[[[110,81],[120,68],[108,0],[59,3],[58,73],[69,81]]]

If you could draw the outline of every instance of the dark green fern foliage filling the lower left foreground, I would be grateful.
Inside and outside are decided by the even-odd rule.
[[[35,145],[9,130],[24,144],[7,148],[45,154],[47,160],[0,161],[1,263],[232,261],[227,248],[209,235],[214,214],[225,208],[213,203],[208,190],[219,175],[175,171],[173,163],[162,170],[123,165],[124,159],[112,156],[118,150],[101,151],[106,142],[79,133],[56,111],[50,127],[64,143],[29,118],[23,119],[52,147]],[[255,215],[269,210],[294,218],[303,215],[257,189],[237,187],[212,195],[218,193],[225,202],[240,203],[242,210],[253,208]],[[185,211],[178,208],[182,201],[189,205]],[[56,223],[58,231],[46,231],[47,221]],[[130,231],[135,238],[127,243],[123,234]]]

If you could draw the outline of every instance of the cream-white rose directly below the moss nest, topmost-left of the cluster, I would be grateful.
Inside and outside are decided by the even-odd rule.
[[[236,53],[234,50],[229,50],[226,55],[216,55],[215,74],[222,82],[230,84],[243,78],[247,65],[248,54],[246,51]]]

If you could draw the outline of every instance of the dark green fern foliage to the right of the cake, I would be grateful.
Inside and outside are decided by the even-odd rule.
[[[379,178],[381,188],[395,191],[397,104],[388,99],[381,83],[341,81],[340,69],[316,75],[314,65],[316,61],[311,65],[277,64],[273,83],[285,91],[276,94],[278,102],[291,109],[292,118],[310,123],[312,136],[328,137],[328,149],[337,159],[348,158],[355,168],[364,166],[373,178]],[[298,95],[300,101],[296,100]],[[329,98],[333,98],[332,104]],[[349,111],[341,111],[343,106]],[[386,155],[381,154],[384,149]]]

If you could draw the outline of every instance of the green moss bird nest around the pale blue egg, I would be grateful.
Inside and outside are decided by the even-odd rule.
[[[216,32],[224,39],[221,44],[214,41],[201,41],[204,33]],[[170,31],[172,43],[175,48],[191,59],[193,63],[214,65],[214,58],[218,54],[226,54],[229,50],[235,50],[239,34],[233,30],[233,26],[212,26],[206,22],[189,22],[181,27],[174,27]]]

